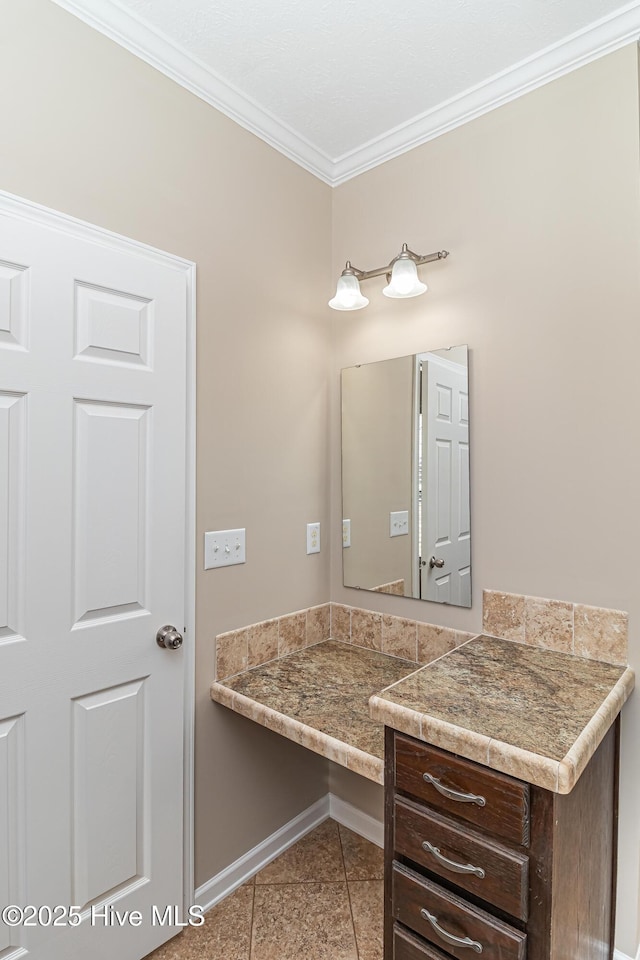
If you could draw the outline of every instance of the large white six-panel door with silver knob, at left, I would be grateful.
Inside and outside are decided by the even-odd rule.
[[[138,960],[182,904],[188,279],[91,236],[0,199],[0,907],[61,908],[1,960]]]

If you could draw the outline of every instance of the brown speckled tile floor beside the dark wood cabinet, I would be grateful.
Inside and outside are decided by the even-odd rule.
[[[146,960],[382,960],[382,850],[325,820]]]

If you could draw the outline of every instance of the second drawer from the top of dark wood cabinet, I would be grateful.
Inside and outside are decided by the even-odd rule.
[[[529,858],[427,807],[396,798],[396,853],[520,920],[529,902]],[[444,861],[451,861],[446,863]]]

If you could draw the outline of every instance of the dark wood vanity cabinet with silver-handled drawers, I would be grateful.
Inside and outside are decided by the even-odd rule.
[[[611,960],[618,721],[570,794],[387,728],[384,960]]]

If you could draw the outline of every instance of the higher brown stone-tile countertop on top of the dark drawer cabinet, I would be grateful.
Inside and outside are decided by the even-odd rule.
[[[476,637],[371,697],[371,717],[569,793],[634,686],[633,670]]]

